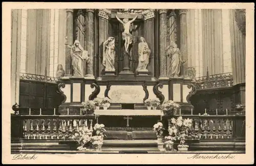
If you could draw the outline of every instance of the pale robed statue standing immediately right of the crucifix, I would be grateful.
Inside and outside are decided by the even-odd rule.
[[[139,54],[139,64],[137,67],[138,70],[147,70],[148,59],[150,58],[151,50],[148,48],[148,45],[144,39],[144,37],[140,37],[140,43],[138,48]]]

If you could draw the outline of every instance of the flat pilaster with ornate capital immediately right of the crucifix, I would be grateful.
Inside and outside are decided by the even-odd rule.
[[[149,63],[147,65],[147,69],[150,72],[151,79],[154,81],[155,79],[155,10],[146,10],[142,12],[144,16],[144,38],[148,44],[148,47],[151,50],[151,55],[149,59]]]

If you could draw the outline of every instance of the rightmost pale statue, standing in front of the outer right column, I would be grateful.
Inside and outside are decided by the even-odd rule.
[[[171,44],[166,49],[167,56],[171,57],[172,61],[172,72],[170,74],[171,77],[179,77],[180,74],[180,66],[183,63],[180,56],[180,49],[177,48],[177,44],[171,41]]]

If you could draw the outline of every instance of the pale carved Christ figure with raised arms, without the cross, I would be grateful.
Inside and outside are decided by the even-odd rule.
[[[132,34],[130,33],[130,26],[131,26],[131,23],[137,18],[137,15],[130,21],[127,18],[124,18],[123,20],[121,20],[117,16],[116,16],[116,18],[123,25],[124,31],[122,32],[122,38],[125,41],[124,42],[125,52],[128,53],[129,45],[133,42]]]

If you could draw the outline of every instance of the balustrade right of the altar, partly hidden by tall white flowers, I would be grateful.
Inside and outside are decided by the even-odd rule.
[[[163,116],[168,129],[171,118],[180,115]],[[190,139],[245,139],[245,115],[181,115],[191,118],[192,135]]]

